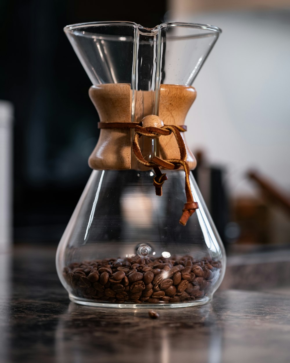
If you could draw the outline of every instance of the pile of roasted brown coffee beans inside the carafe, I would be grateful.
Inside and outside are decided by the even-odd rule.
[[[221,262],[158,257],[74,262],[63,269],[72,293],[104,303],[180,303],[202,298],[220,273]]]

